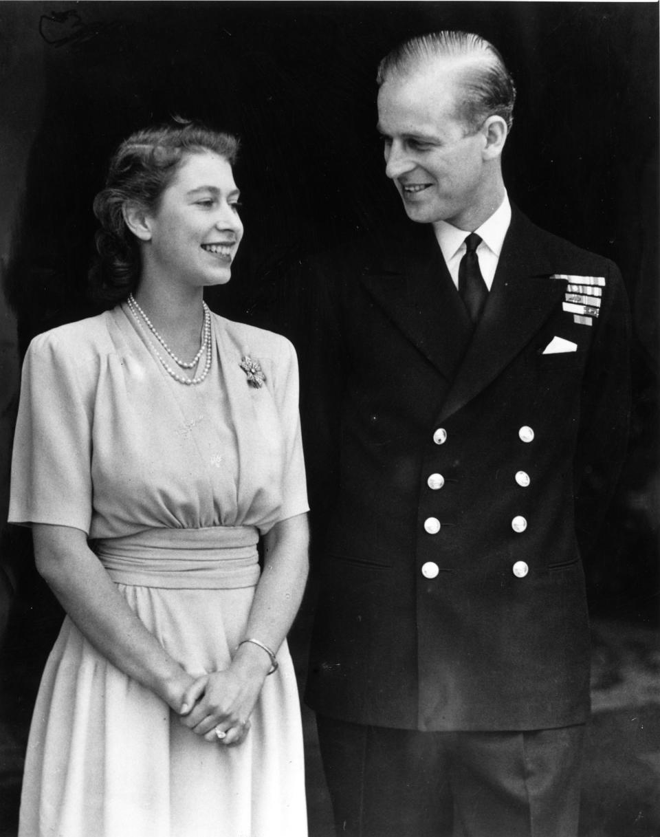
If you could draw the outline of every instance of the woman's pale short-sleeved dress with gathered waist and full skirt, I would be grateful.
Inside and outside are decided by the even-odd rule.
[[[10,520],[74,526],[192,675],[226,668],[257,542],[307,511],[294,349],[212,316],[198,386],[174,381],[130,311],[36,337],[23,367]],[[265,383],[248,383],[243,357]],[[19,837],[302,837],[299,696],[286,643],[242,745],[196,736],[66,618],[28,743]]]

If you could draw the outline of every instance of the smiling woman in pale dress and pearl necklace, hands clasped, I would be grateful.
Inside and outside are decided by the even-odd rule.
[[[190,124],[130,136],[95,199],[95,276],[120,304],[28,349],[10,520],[67,617],[20,837],[306,834],[296,359],[202,300],[243,235],[236,151]]]

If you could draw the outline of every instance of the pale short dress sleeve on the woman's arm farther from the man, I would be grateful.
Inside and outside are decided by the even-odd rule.
[[[69,348],[69,351],[66,349]],[[36,337],[23,362],[9,521],[73,526],[92,515],[91,399],[70,347]],[[89,375],[89,367],[84,370]]]

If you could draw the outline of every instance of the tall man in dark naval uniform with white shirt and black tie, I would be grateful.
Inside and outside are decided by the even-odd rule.
[[[304,358],[313,494],[337,485],[307,689],[337,834],[570,837],[581,557],[627,436],[622,279],[511,207],[491,44],[412,39],[378,83],[415,223],[318,266]]]

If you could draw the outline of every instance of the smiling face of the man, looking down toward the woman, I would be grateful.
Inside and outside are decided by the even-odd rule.
[[[456,117],[459,92],[446,61],[408,77],[392,73],[378,93],[378,129],[385,143],[386,175],[408,218],[472,229],[487,198],[486,138],[482,131],[466,136],[466,126]]]

